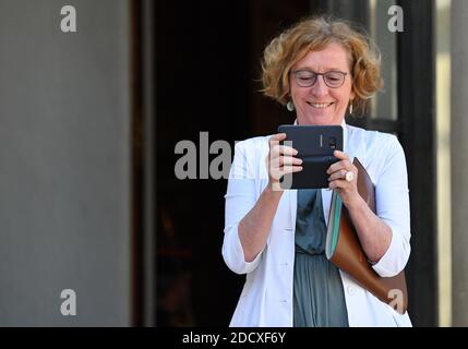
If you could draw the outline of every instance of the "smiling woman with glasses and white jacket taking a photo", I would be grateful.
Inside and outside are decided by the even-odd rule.
[[[226,194],[223,256],[245,285],[231,326],[410,326],[326,260],[332,189],[349,210],[374,270],[394,276],[410,253],[405,154],[391,134],[346,124],[381,88],[380,59],[363,34],[343,21],[313,17],[286,31],[264,52],[264,93],[296,115],[297,124],[341,125],[344,151],[328,168],[329,188],[278,189],[300,171],[286,134],[236,145]],[[352,110],[353,109],[353,110]],[[358,157],[375,185],[376,215],[357,191]]]

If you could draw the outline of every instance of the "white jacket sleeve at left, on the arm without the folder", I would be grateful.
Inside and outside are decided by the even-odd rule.
[[[228,189],[225,195],[225,236],[223,257],[226,265],[237,274],[251,273],[259,265],[263,250],[252,262],[245,262],[239,239],[238,227],[242,218],[255,205],[256,181],[253,170],[253,156],[248,156],[247,141],[235,147],[235,158],[229,172]],[[254,148],[250,152],[255,152]],[[249,155],[252,155],[249,152]],[[259,154],[256,154],[259,155]]]

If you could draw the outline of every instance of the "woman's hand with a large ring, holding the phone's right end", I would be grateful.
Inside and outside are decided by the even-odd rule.
[[[358,169],[351,161],[349,161],[348,154],[335,151],[333,155],[337,157],[339,161],[333,164],[326,171],[326,173],[329,174],[328,188],[338,190],[343,203],[349,209],[352,206],[358,205],[362,200],[358,193]],[[349,182],[346,180],[346,173],[348,171],[352,172],[352,179]]]

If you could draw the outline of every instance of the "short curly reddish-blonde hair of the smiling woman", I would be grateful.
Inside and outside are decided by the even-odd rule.
[[[281,105],[289,101],[289,72],[308,52],[340,44],[349,52],[352,101],[357,115],[365,112],[368,100],[382,89],[381,57],[372,39],[344,20],[329,16],[305,19],[275,37],[262,61],[262,92]]]

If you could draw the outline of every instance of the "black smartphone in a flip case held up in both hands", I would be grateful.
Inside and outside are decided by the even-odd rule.
[[[296,148],[296,157],[302,159],[302,171],[284,176],[281,189],[328,188],[326,170],[338,161],[333,152],[343,152],[343,128],[283,124],[278,133],[286,133],[287,137],[281,143]]]

